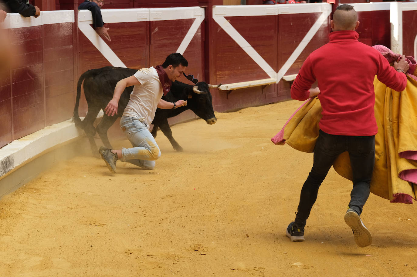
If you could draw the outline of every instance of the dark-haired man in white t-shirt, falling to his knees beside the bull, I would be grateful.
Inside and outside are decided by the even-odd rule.
[[[108,102],[104,112],[108,116],[117,114],[120,96],[126,87],[134,85],[130,100],[120,120],[120,127],[133,148],[111,150],[100,147],[100,155],[108,169],[116,173],[116,161],[130,162],[151,170],[161,151],[149,132],[156,108],[175,109],[186,106],[187,101],[166,102],[161,99],[171,89],[171,82],[177,80],[188,66],[180,53],[172,53],[157,67],[142,68],[131,77],[120,80],[114,89],[113,99]]]

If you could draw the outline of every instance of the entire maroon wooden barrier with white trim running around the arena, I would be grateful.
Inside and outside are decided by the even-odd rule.
[[[361,21],[360,41],[416,55],[417,3],[352,5]],[[211,91],[218,112],[289,99],[302,62],[327,43],[332,9],[311,3],[102,10],[111,42],[95,33],[88,10],[79,11],[77,20],[73,11],[47,11],[38,18],[9,14],[0,27],[12,37],[21,63],[0,80],[0,147],[69,119],[82,72],[158,65],[171,52],[188,59],[187,74],[223,84]],[[81,116],[87,111],[82,99]]]

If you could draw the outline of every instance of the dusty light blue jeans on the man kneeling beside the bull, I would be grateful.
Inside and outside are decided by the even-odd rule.
[[[155,160],[161,157],[155,139],[146,125],[133,117],[122,116],[120,127],[133,148],[122,148],[122,162],[151,170],[155,167]]]

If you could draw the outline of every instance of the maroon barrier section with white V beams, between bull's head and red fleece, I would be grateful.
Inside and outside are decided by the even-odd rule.
[[[288,99],[290,82],[282,78],[294,78],[307,55],[327,43],[331,8],[327,3],[213,7],[210,82],[223,84],[212,92],[215,110]]]

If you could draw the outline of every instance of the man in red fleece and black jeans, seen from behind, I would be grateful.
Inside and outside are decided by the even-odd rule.
[[[353,188],[344,220],[353,230],[358,246],[372,243],[372,236],[359,215],[369,197],[375,161],[374,77],[402,91],[407,84],[405,56],[391,67],[374,48],[358,41],[357,12],[340,5],[330,21],[329,43],[312,52],[291,86],[291,97],[306,100],[318,96],[322,105],[319,137],[314,147],[313,167],[301,189],[295,221],[286,235],[304,241],[304,227],[317,192],[334,160],[348,151],[353,172]],[[316,81],[319,87],[311,88]],[[320,88],[320,89],[319,89]]]

